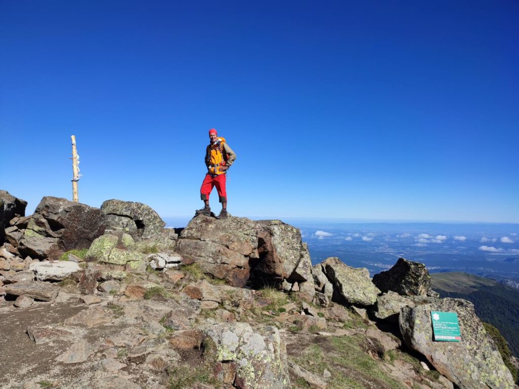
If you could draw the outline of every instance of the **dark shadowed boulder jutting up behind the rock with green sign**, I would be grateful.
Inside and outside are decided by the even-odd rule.
[[[405,258],[400,258],[391,269],[375,274],[373,283],[383,292],[392,290],[403,296],[435,295],[425,265]]]

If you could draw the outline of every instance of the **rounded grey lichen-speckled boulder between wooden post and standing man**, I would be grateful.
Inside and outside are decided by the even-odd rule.
[[[143,203],[106,200],[101,210],[109,228],[128,232],[134,238],[152,238],[166,226],[158,213]]]

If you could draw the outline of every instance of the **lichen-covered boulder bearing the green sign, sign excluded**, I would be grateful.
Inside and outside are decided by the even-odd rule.
[[[433,341],[431,311],[456,312],[460,342]],[[461,299],[438,299],[403,307],[399,318],[405,344],[423,354],[443,376],[466,389],[511,389],[512,374],[474,313],[474,305]]]

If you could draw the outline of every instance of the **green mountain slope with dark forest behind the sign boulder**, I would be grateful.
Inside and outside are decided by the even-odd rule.
[[[433,273],[431,282],[441,297],[471,301],[477,316],[497,327],[512,353],[519,356],[519,290],[461,272]]]

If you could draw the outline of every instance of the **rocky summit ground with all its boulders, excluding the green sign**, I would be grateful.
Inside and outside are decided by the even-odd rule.
[[[419,263],[372,281],[312,267],[277,220],[169,230],[144,204],[44,198],[25,217],[0,195],[2,387],[514,387],[472,305]],[[463,341],[433,342],[431,310],[457,312]]]

